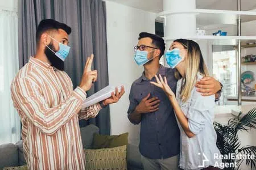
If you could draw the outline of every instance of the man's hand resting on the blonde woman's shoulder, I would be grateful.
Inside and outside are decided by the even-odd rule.
[[[199,82],[196,82],[196,87],[202,96],[214,95],[221,90],[220,82],[210,76],[205,76]]]

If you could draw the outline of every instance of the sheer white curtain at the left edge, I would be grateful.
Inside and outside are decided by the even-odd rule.
[[[0,10],[0,145],[20,139],[20,119],[11,100],[10,84],[18,72],[18,16]]]

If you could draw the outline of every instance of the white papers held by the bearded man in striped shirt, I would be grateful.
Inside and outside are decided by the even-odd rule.
[[[122,86],[118,86],[118,92],[121,91]],[[107,86],[105,88],[102,88],[102,90],[96,92],[92,96],[88,97],[87,99],[84,100],[82,103],[82,108],[89,107],[90,105],[96,104],[102,100],[108,99],[112,92],[115,93],[115,87],[114,86]]]

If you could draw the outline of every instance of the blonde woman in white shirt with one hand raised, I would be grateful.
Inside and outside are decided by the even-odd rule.
[[[196,81],[208,76],[199,45],[192,40],[175,40],[166,52],[168,65],[176,68],[178,80],[176,96],[167,84],[166,77],[156,76],[155,86],[162,88],[174,107],[180,129],[181,169],[218,169],[220,155],[216,146],[217,135],[213,128],[214,95],[202,96],[196,91]]]

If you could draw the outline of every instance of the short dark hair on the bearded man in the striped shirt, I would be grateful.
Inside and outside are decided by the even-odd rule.
[[[64,23],[57,22],[53,19],[43,19],[36,28],[36,44],[39,44],[42,34],[46,31],[63,29],[69,35],[71,33],[71,27]]]

